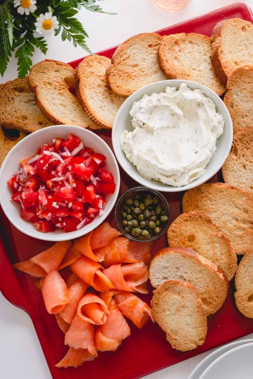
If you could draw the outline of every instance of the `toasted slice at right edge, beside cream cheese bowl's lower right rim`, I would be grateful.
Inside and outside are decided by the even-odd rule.
[[[222,167],[226,183],[253,195],[253,126],[234,134],[231,152]]]

